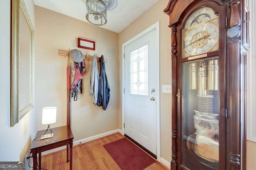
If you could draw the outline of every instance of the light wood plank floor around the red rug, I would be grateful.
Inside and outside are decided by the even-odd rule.
[[[73,170],[120,170],[103,145],[123,137],[120,133],[115,133],[101,139],[73,146]],[[41,160],[42,168],[69,170],[69,162],[66,162],[66,150],[42,156]],[[168,168],[159,162],[155,162],[145,170],[168,170]]]

